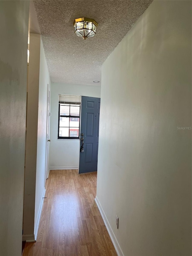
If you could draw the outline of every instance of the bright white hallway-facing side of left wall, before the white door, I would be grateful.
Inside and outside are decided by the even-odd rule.
[[[35,239],[38,232],[42,209],[42,198],[45,193],[45,154],[46,154],[46,122],[47,122],[47,85],[51,81],[45,59],[43,44],[40,45],[39,100],[38,100],[38,136],[37,136],[37,167],[35,186]]]

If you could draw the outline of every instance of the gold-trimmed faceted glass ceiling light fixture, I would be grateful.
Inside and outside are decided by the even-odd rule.
[[[79,18],[75,19],[73,26],[75,27],[75,34],[85,40],[96,34],[98,23],[93,19]]]

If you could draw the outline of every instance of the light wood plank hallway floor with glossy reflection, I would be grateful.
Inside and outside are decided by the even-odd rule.
[[[23,256],[116,256],[94,201],[97,173],[51,170],[37,242],[26,243]]]

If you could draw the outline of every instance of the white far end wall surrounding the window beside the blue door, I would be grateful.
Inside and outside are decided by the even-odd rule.
[[[49,169],[79,167],[79,140],[58,140],[58,95],[81,95],[100,98],[101,86],[52,83]]]

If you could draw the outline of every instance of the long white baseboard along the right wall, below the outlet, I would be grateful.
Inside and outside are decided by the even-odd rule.
[[[118,243],[118,241],[117,241],[117,239],[116,239],[115,234],[113,233],[113,230],[112,230],[112,228],[111,228],[111,226],[110,226],[110,224],[109,224],[109,221],[107,220],[107,217],[106,217],[106,215],[105,215],[105,213],[104,213],[104,210],[103,210],[103,208],[102,208],[102,206],[101,206],[101,203],[99,202],[97,196],[95,197],[95,203],[97,204],[98,209],[99,209],[99,211],[100,211],[100,213],[101,213],[101,217],[103,218],[104,224],[105,224],[105,226],[106,226],[106,228],[107,228],[107,231],[108,231],[108,233],[109,233],[109,236],[110,236],[110,238],[111,238],[111,241],[112,241],[112,243],[113,243],[113,245],[114,245],[114,247],[115,247],[115,249],[116,249],[117,255],[118,255],[118,256],[124,256],[124,254],[123,254],[123,252],[122,252],[122,249],[121,249],[121,247],[120,247],[120,245],[119,245],[119,243]]]

